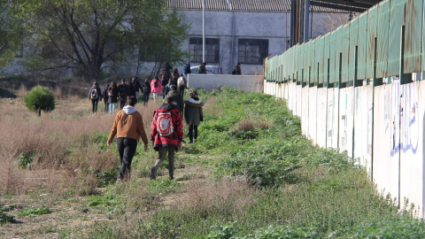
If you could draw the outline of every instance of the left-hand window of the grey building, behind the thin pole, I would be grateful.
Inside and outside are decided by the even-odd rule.
[[[189,39],[190,61],[202,62],[202,37]],[[220,39],[205,38],[205,62],[220,63]]]

